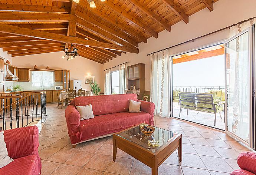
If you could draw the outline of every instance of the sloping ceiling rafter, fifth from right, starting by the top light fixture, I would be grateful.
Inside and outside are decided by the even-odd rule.
[[[119,23],[118,21],[112,19],[111,17],[109,17],[108,15],[102,13],[101,11],[97,10],[97,9],[88,9],[87,8],[87,4],[86,3],[82,3],[83,1],[81,1],[81,3],[79,2],[79,6],[91,11],[92,13],[96,14],[97,16],[101,17],[102,19],[106,20],[107,22],[115,25],[116,27],[118,27],[119,29],[122,29],[124,30],[125,32],[129,33],[130,35],[132,36],[135,36],[137,37],[138,39],[142,40],[143,42],[147,43],[147,39],[145,37],[142,37],[140,34],[132,31],[132,30],[129,30],[127,27],[123,26],[121,23]],[[103,25],[103,24],[102,24]],[[156,32],[155,32],[156,33]],[[157,33],[155,35],[157,37]]]

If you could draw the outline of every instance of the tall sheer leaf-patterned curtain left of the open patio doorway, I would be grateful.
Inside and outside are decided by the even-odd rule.
[[[169,118],[171,105],[171,67],[168,49],[150,55],[151,57],[151,102],[155,103],[154,115]]]

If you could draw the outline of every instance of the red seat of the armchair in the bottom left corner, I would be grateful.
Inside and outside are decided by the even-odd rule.
[[[14,159],[13,162],[0,169],[0,174],[39,175],[40,165],[40,158],[37,155],[29,155]]]

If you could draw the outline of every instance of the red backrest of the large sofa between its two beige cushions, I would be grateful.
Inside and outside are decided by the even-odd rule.
[[[118,95],[82,96],[72,100],[70,105],[85,106],[92,104],[93,115],[97,116],[128,111],[129,99],[137,101],[137,95],[129,93]]]

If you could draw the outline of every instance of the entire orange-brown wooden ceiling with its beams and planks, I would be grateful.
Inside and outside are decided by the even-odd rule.
[[[76,44],[80,56],[104,64],[217,0],[0,0],[0,47],[16,56],[60,52]],[[89,47],[88,47],[89,46]],[[64,55],[64,53],[63,53]]]

